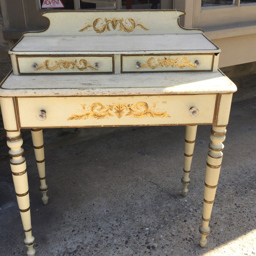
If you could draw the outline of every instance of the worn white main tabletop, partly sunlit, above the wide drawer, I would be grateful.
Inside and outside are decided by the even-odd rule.
[[[36,81],[36,82],[35,82]],[[220,71],[211,73],[147,73],[109,75],[10,74],[1,96],[100,96],[230,93],[237,87]]]

